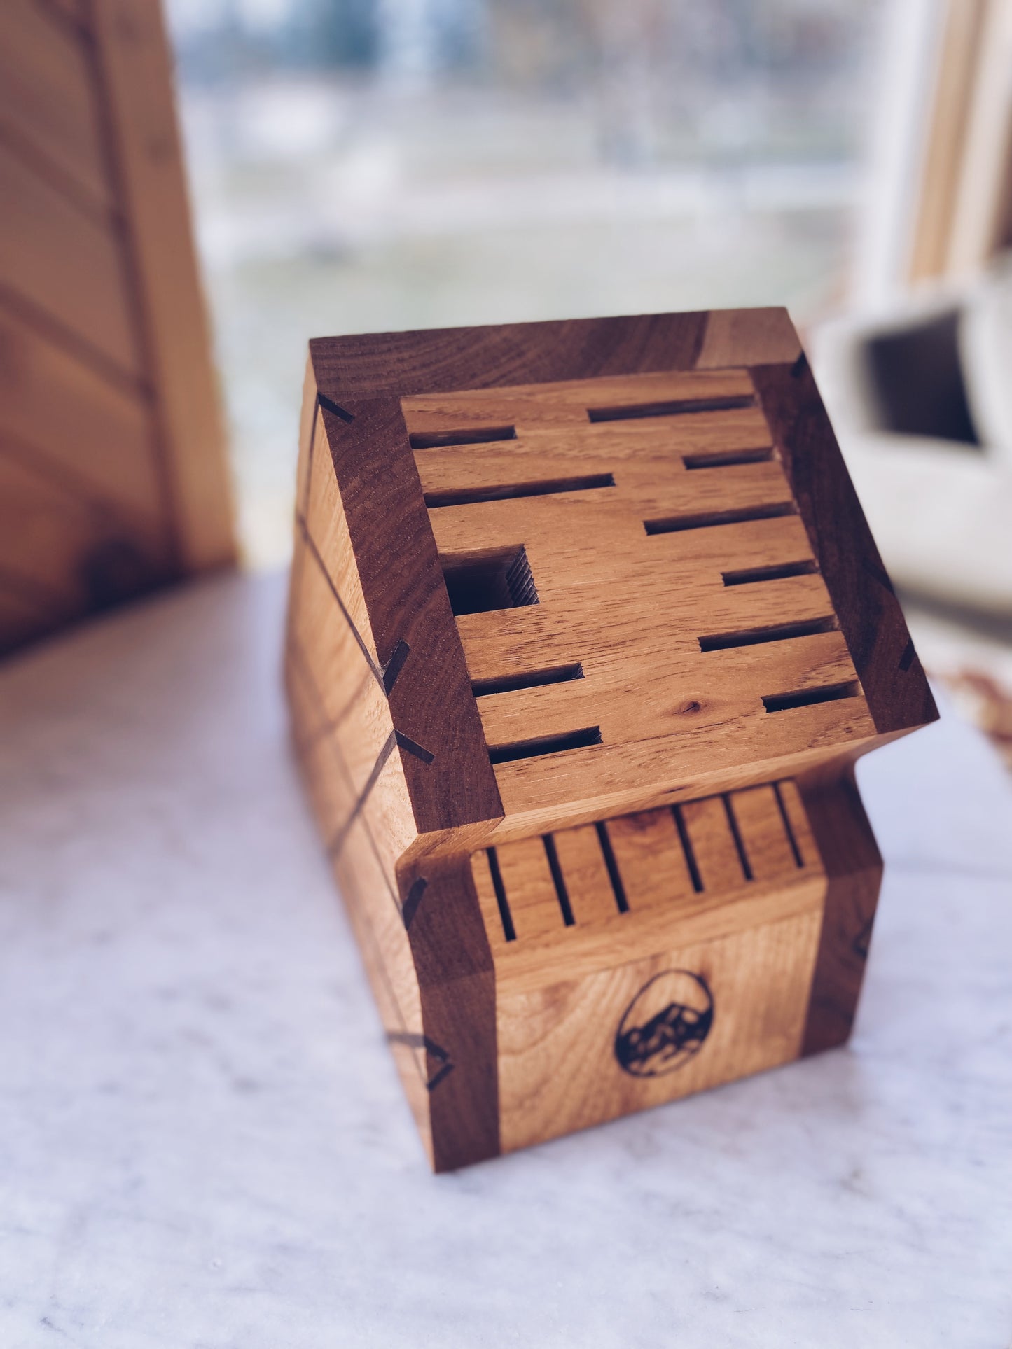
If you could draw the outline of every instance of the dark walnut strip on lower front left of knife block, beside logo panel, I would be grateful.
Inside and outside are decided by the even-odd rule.
[[[422,1029],[453,1064],[429,1091],[436,1171],[499,1155],[495,971],[468,855],[398,869],[402,905],[418,896],[407,939],[418,975]],[[444,1064],[429,1056],[429,1079]]]

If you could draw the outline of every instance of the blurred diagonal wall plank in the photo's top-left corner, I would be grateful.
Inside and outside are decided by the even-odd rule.
[[[115,210],[89,49],[38,0],[0,5],[0,136],[88,209]]]

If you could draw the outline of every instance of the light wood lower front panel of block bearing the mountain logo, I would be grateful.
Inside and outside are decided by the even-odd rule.
[[[582,979],[503,990],[497,1017],[503,1152],[795,1059],[818,939],[816,904],[780,923],[650,952]],[[680,1051],[672,1044],[668,1062],[658,1052],[652,1075],[625,1070],[619,1028],[638,1029],[663,1016],[665,1004],[692,998],[696,1016],[710,1001],[702,1043]]]

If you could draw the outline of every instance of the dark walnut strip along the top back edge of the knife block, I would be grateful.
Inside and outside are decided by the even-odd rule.
[[[348,399],[356,395],[403,397],[692,370],[707,317],[706,312],[641,314],[317,337],[309,352],[320,391],[348,409]]]

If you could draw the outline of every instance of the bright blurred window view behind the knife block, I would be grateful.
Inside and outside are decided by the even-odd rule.
[[[254,563],[309,336],[846,282],[884,0],[167,0]]]

